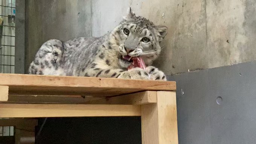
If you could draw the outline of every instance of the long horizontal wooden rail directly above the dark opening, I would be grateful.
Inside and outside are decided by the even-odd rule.
[[[0,118],[140,116],[139,105],[0,104]]]

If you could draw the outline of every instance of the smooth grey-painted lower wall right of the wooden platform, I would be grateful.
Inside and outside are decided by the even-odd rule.
[[[168,79],[177,82],[180,144],[256,143],[255,61]]]

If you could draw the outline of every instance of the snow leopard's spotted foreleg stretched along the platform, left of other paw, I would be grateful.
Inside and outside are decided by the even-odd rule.
[[[149,80],[150,76],[141,68],[133,68],[131,70],[122,69],[101,69],[90,68],[85,71],[87,77],[110,77],[110,78],[122,78],[122,79],[145,79]]]

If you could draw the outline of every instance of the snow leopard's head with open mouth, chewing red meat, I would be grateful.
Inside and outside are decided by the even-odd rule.
[[[131,57],[141,57],[151,65],[161,52],[159,42],[168,32],[166,26],[155,26],[151,21],[136,16],[131,8],[121,23],[111,32],[110,44],[119,52],[119,62],[127,68]]]

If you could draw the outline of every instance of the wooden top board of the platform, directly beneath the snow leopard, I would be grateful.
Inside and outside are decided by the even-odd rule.
[[[176,82],[99,77],[0,74],[10,95],[115,96],[139,91],[175,91]]]

